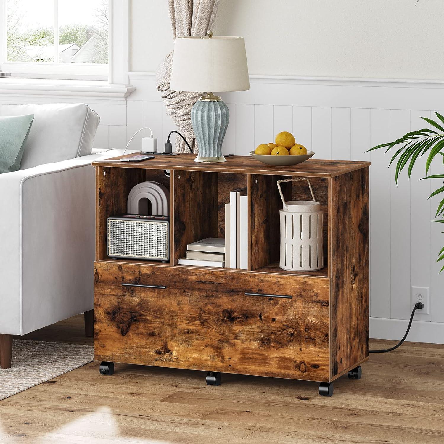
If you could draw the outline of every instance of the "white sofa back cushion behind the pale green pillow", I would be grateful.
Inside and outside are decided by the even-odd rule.
[[[84,103],[0,105],[0,116],[34,114],[20,170],[91,154],[100,117]]]

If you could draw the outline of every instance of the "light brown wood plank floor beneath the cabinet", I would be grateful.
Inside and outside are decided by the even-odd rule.
[[[82,317],[28,335],[91,343]],[[392,341],[371,341],[372,348]],[[317,384],[92,362],[0,401],[0,443],[444,443],[444,345],[371,355],[332,398]]]

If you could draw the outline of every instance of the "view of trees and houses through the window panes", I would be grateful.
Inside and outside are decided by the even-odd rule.
[[[55,5],[54,0],[7,0],[8,62],[107,64],[108,0],[58,1],[57,13]]]

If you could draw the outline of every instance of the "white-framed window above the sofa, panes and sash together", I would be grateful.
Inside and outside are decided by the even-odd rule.
[[[107,79],[108,0],[2,2],[1,71],[13,77]]]

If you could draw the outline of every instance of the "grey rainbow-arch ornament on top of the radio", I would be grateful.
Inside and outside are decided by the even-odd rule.
[[[143,199],[151,202],[151,214],[169,216],[170,192],[159,182],[147,181],[138,183],[128,194],[128,213],[142,214]]]

